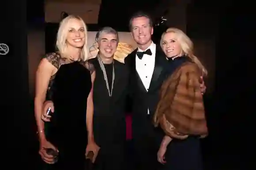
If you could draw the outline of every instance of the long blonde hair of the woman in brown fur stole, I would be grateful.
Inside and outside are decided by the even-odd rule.
[[[190,38],[180,29],[177,28],[169,28],[164,32],[161,36],[160,45],[162,47],[163,37],[166,33],[175,33],[177,36],[177,41],[181,44],[182,51],[186,54],[191,60],[198,65],[198,67],[202,70],[204,76],[207,76],[207,69],[203,66],[203,64],[199,61],[199,59],[193,54],[193,42]]]

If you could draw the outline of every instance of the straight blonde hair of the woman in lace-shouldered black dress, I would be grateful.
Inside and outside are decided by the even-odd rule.
[[[64,18],[60,22],[60,27],[57,33],[57,41],[56,41],[56,47],[61,55],[62,58],[69,58],[67,56],[67,44],[66,44],[66,39],[67,39],[67,34],[68,34],[68,24],[71,19],[77,19],[80,22],[82,22],[82,25],[84,27],[84,34],[85,34],[85,43],[83,45],[83,48],[81,50],[80,58],[83,61],[86,61],[89,57],[88,55],[88,49],[87,49],[87,26],[83,19],[79,16],[74,16],[74,15],[69,15],[68,17]]]

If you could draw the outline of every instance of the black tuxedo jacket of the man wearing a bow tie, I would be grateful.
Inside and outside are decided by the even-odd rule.
[[[124,59],[130,72],[129,94],[132,100],[132,133],[134,138],[145,135],[152,136],[155,133],[152,118],[158,104],[159,90],[166,79],[165,67],[168,64],[162,49],[157,46],[154,71],[147,91],[136,71],[136,51],[137,49]]]

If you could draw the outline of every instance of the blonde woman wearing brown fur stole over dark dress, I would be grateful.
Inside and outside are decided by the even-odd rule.
[[[208,130],[200,81],[207,70],[180,29],[167,29],[160,43],[168,64],[154,114],[154,125],[165,132],[158,161],[162,170],[202,170],[200,138],[206,137]]]

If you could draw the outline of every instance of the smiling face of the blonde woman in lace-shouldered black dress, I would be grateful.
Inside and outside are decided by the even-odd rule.
[[[85,43],[85,28],[83,23],[75,18],[69,20],[66,43],[68,46],[82,48]]]

